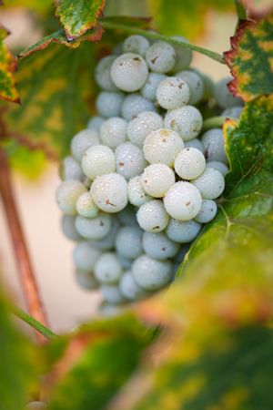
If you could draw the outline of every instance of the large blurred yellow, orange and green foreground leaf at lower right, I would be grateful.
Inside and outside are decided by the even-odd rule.
[[[150,306],[166,310],[174,336],[126,410],[272,408],[272,223],[270,235],[255,236],[211,246]]]

